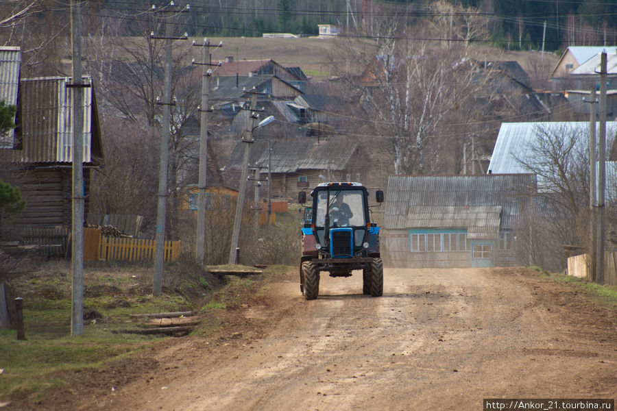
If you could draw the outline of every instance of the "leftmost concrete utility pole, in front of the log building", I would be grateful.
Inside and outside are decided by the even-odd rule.
[[[82,97],[82,17],[79,0],[71,3],[73,40],[73,220],[71,260],[73,300],[71,336],[84,334],[84,107]]]

